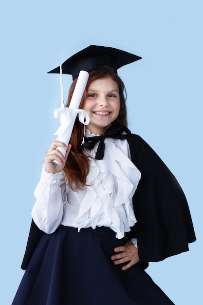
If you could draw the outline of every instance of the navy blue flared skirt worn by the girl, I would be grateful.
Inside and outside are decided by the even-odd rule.
[[[139,263],[125,271],[113,264],[113,249],[125,244],[105,227],[44,234],[12,305],[174,304]]]

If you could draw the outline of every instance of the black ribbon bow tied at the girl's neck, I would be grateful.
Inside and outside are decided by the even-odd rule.
[[[104,157],[104,140],[105,138],[122,139],[126,138],[126,134],[131,134],[129,129],[122,123],[112,124],[105,133],[102,135],[96,135],[89,138],[85,138],[84,147],[92,149],[96,143],[99,142],[99,146],[96,151],[95,159],[101,160]]]

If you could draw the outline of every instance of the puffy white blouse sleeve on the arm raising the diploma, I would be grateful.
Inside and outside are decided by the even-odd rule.
[[[63,172],[53,174],[46,172],[43,167],[34,194],[36,202],[32,210],[33,220],[40,230],[51,234],[61,223],[67,201]]]

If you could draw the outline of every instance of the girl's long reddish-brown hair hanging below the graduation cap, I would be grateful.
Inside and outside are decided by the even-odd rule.
[[[119,88],[120,112],[118,114],[118,117],[115,119],[113,123],[122,122],[124,125],[127,125],[127,109],[126,109],[127,95],[126,95],[125,86],[123,81],[120,79],[120,77],[110,67],[103,67],[100,69],[89,71],[89,78],[88,78],[86,90],[82,97],[79,108],[83,108],[84,106],[86,99],[86,92],[90,83],[93,80],[101,79],[105,77],[111,77],[118,84],[118,88]],[[70,87],[68,102],[66,107],[69,107],[76,82],[77,82],[77,77],[74,79]],[[72,148],[68,155],[66,165],[64,167],[64,172],[67,177],[68,184],[73,191],[81,189],[86,185],[86,179],[90,169],[90,159],[87,156],[87,154],[84,153],[84,148],[81,145],[83,134],[84,134],[84,127],[79,122],[78,117],[76,117],[73,133],[70,139],[70,144],[72,145]]]

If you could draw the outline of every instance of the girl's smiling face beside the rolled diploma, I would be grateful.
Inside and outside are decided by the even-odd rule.
[[[84,110],[90,116],[87,128],[91,133],[103,134],[120,111],[118,84],[111,77],[93,80],[87,91]]]

